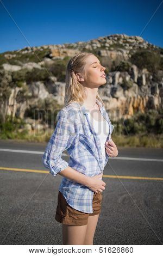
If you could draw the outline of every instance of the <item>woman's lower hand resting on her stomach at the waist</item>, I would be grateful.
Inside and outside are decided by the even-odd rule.
[[[102,177],[102,173],[96,176],[89,177],[89,187],[93,192],[103,192],[105,190],[105,185],[106,183],[101,180],[100,178]]]

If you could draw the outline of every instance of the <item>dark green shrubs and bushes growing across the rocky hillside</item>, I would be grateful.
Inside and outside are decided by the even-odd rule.
[[[137,48],[134,48],[133,42],[129,39],[123,39],[123,44],[120,41],[116,41],[109,45],[105,46],[105,42],[99,45],[97,48],[93,50],[89,50],[84,46],[81,46],[81,52],[92,52],[97,56],[103,66],[105,66],[105,73],[120,71],[124,72],[124,77],[122,77],[122,83],[120,86],[123,90],[128,90],[133,87],[133,80],[126,78],[125,74],[131,74],[131,66],[134,64],[139,69],[140,73],[142,69],[147,69],[149,72],[149,76],[146,77],[146,82],[148,84],[148,77],[152,77],[151,84],[157,82],[161,87],[161,79],[163,72],[163,49],[160,47],[154,47],[151,44],[147,44],[146,48],[142,47],[142,42],[139,43]],[[129,58],[122,59],[123,55],[121,54],[124,50],[126,50],[126,45],[130,47]],[[132,47],[133,46],[133,47]],[[72,45],[68,45],[67,48],[73,49]],[[108,57],[102,57],[101,50],[108,51],[118,51],[120,52],[120,56],[117,55],[115,60],[108,59]],[[8,56],[8,57],[5,57]],[[43,60],[48,58],[50,61]],[[31,135],[26,127],[26,123],[23,119],[18,118],[17,116],[12,118],[7,115],[7,106],[9,104],[9,97],[13,89],[16,90],[20,88],[21,90],[17,93],[15,99],[17,103],[21,103],[22,100],[28,101],[30,97],[32,97],[32,93],[29,93],[29,85],[32,82],[41,81],[45,84],[48,84],[48,80],[50,76],[54,76],[58,82],[65,82],[66,75],[66,66],[70,57],[66,56],[64,58],[58,58],[52,56],[51,49],[49,47],[37,48],[32,47],[32,49],[23,48],[19,51],[12,52],[4,52],[0,53],[0,138],[15,138],[15,139],[26,139],[32,141],[46,141],[49,138],[49,135],[39,135],[34,136]],[[25,63],[40,63],[41,68],[22,68],[18,71],[7,71],[3,69],[3,64],[11,64],[23,66]],[[137,78],[137,84],[139,87],[142,84],[140,81],[142,77]],[[150,84],[150,83],[149,83]],[[121,88],[121,89],[122,89]],[[14,105],[14,103],[13,103]],[[55,118],[57,113],[53,112],[53,109],[59,109],[61,106],[55,100],[38,99],[35,103],[33,103],[32,107],[28,107],[24,118],[30,118],[33,120],[37,120],[39,118],[39,114],[41,114],[42,124],[48,124],[51,129],[54,128]],[[162,147],[162,131],[163,131],[163,118],[162,118],[162,109],[149,109],[146,113],[135,113],[133,117],[118,121],[116,125],[116,129],[114,131],[115,139],[119,143],[128,144],[128,145],[143,145],[146,147],[149,146],[148,135],[150,138],[158,136],[156,139],[154,147]],[[123,141],[123,138],[126,140]],[[133,139],[133,141],[132,141]],[[160,141],[159,141],[160,139]],[[128,140],[128,141],[127,141]],[[150,141],[150,139],[149,139]],[[132,144],[132,143],[133,144]],[[150,145],[153,145],[152,143]]]

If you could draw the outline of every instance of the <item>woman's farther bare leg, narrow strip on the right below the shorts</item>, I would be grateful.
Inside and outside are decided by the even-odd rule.
[[[99,214],[89,216],[88,222],[87,222],[87,229],[86,229],[84,245],[93,245],[93,238],[94,238],[95,231],[96,231],[98,217],[99,217]]]

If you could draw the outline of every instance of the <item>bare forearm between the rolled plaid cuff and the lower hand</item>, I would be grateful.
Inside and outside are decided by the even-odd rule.
[[[61,176],[64,176],[67,179],[73,180],[77,183],[80,183],[84,186],[89,185],[90,177],[84,175],[83,173],[79,173],[77,170],[74,170],[70,166],[67,166],[64,170],[58,173]]]

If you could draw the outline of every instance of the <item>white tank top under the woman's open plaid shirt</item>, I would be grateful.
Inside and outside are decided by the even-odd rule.
[[[109,124],[106,120],[104,121],[97,121],[95,120],[90,112],[88,112],[88,117],[90,118],[90,121],[99,136],[100,142],[101,142],[101,148],[102,148],[102,157],[103,157],[103,168],[105,164],[105,142],[106,138],[108,137],[109,134]]]

